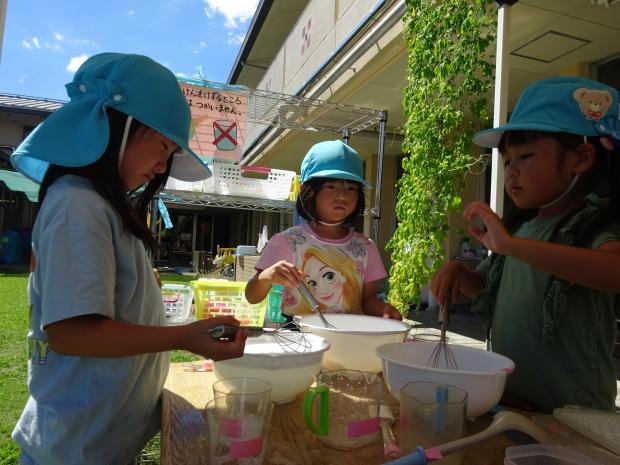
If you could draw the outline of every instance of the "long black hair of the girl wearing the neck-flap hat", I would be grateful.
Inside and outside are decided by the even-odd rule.
[[[106,199],[118,212],[123,226],[139,238],[151,252],[157,248],[157,242],[147,226],[146,218],[151,200],[166,184],[173,156],[168,159],[166,171],[158,174],[143,189],[127,192],[118,171],[118,152],[121,147],[127,115],[113,108],[106,110],[110,126],[108,145],[97,161],[81,167],[67,167],[51,164],[45,173],[39,190],[39,203],[43,204],[47,190],[61,176],[73,174],[88,179],[97,193]],[[127,140],[136,134],[140,127],[146,126],[133,119]]]

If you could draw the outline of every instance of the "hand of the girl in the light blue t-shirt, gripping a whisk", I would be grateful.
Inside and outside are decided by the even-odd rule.
[[[239,321],[231,316],[224,316],[198,320],[186,325],[182,341],[183,349],[215,361],[241,357],[245,340],[248,338],[248,330],[240,329],[235,333],[234,339],[229,341],[214,339],[207,333],[209,329],[222,324],[239,326]]]

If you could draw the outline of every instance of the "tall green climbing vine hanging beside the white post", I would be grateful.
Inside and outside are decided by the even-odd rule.
[[[397,185],[398,227],[387,244],[389,300],[403,313],[443,262],[448,212],[461,206],[465,175],[480,161],[470,148],[488,120],[484,96],[493,65],[485,54],[495,39],[492,0],[406,3],[404,174]]]

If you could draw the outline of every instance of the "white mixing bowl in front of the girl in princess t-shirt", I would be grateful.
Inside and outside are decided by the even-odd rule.
[[[346,368],[378,373],[381,359],[375,349],[389,342],[403,342],[409,332],[409,325],[402,321],[376,316],[327,313],[325,318],[336,328],[326,328],[318,315],[298,316],[295,320],[302,331],[331,343],[323,358],[323,367],[328,370]]]

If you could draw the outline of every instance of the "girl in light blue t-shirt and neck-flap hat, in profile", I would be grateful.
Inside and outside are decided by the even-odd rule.
[[[172,349],[243,354],[206,336],[233,318],[165,326],[148,250],[151,199],[169,174],[210,175],[188,145],[190,111],[174,75],[140,55],[89,58],[70,101],[11,161],[41,183],[29,297],[30,398],[15,426],[21,464],[126,464],[160,425]]]

